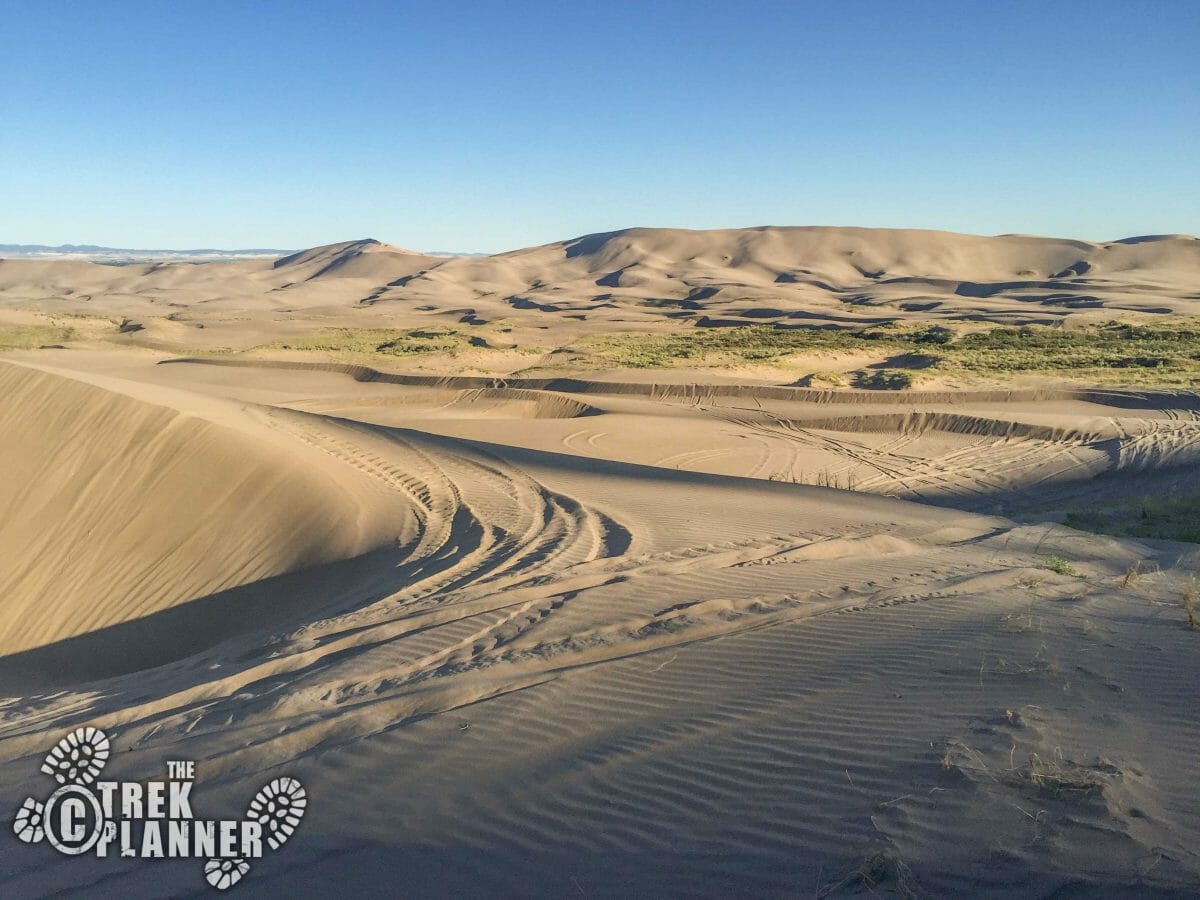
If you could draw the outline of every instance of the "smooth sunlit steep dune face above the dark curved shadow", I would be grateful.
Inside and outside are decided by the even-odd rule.
[[[43,371],[0,364],[0,654],[412,530],[270,437]]]

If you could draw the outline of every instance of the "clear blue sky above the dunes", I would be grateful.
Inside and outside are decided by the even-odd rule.
[[[1200,233],[1200,2],[12,2],[0,242]]]

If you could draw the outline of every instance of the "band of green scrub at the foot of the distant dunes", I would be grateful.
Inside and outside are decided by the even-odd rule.
[[[1020,328],[971,324],[913,325],[893,322],[852,329],[773,324],[690,326],[676,331],[588,335],[569,349],[596,368],[782,365],[805,353],[868,354],[878,361],[857,372],[811,382],[876,390],[919,386],[925,376],[994,378],[1045,374],[1093,384],[1200,384],[1200,323],[1168,319],[1153,324]],[[496,334],[496,332],[492,332]],[[34,346],[54,342],[36,338]],[[59,338],[61,340],[61,338]],[[264,344],[264,350],[328,353],[344,358],[456,355],[470,349],[542,353],[545,348],[493,346],[478,330],[454,328],[335,328]],[[28,344],[25,344],[28,346]],[[586,361],[584,361],[586,360]]]

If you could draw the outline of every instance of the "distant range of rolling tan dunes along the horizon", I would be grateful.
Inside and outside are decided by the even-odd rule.
[[[845,328],[896,317],[1021,323],[1189,314],[1200,302],[1198,276],[1200,240],[1187,235],[1091,244],[865,228],[631,228],[492,257],[430,257],[360,240],[274,262],[6,260],[0,305],[193,324],[238,308],[276,322],[276,331],[280,319],[304,311],[356,312],[360,324],[466,317]]]

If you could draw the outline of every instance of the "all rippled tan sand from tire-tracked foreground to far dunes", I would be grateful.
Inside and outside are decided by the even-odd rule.
[[[182,350],[467,308],[685,328],[644,301],[704,287],[714,319],[1192,314],[1198,270],[1182,236],[865,229],[0,263],[11,322],[143,324],[0,358],[0,806],[89,724],[110,776],[198,761],[212,812],[304,781],[254,896],[1193,895],[1200,551],[1063,521],[1194,491],[1196,391]],[[0,881],[206,889],[11,839]]]

